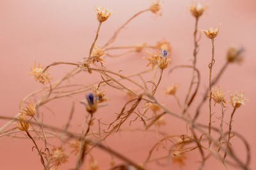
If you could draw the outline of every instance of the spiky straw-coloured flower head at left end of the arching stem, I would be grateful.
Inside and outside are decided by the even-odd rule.
[[[47,73],[47,70],[44,71],[44,67],[40,66],[40,63],[38,64],[38,66],[36,66],[36,62],[34,62],[34,66],[31,66],[30,69],[31,72],[29,74],[33,75],[35,77],[35,80],[39,81],[40,83],[44,84],[51,79],[51,77],[49,77],[49,73]]]

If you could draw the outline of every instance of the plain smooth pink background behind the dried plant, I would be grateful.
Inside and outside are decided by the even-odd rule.
[[[255,29],[256,29],[256,1],[254,0],[226,0],[226,1],[204,1],[202,4],[208,4],[209,10],[200,18],[198,27],[207,29],[217,27],[221,23],[220,34],[216,38],[216,63],[214,73],[225,62],[225,53],[230,44],[242,45],[246,48],[245,59],[241,66],[232,64],[228,67],[222,76],[219,85],[227,92],[234,93],[236,90],[244,91],[246,97],[250,100],[237,110],[234,117],[233,129],[249,141],[252,152],[250,167],[256,169],[256,116],[255,116]],[[56,0],[56,1],[18,1],[1,0],[0,1],[0,77],[1,77],[1,115],[13,116],[17,113],[20,100],[27,94],[42,87],[40,83],[35,82],[28,75],[29,66],[34,61],[40,62],[44,66],[54,61],[80,61],[88,55],[88,50],[92,44],[97,29],[97,19],[95,17],[95,6],[106,5],[113,9],[114,15],[107,22],[102,24],[99,41],[97,44],[103,45],[113,34],[113,31],[124,23],[131,15],[137,11],[148,8],[150,1],[130,0],[130,1],[78,1],[78,0]],[[172,66],[179,64],[191,64],[193,53],[193,29],[195,19],[191,17],[186,6],[191,1],[164,1],[163,17],[155,17],[148,12],[143,13],[127,25],[119,34],[118,39],[113,45],[136,45],[147,42],[150,45],[165,38],[172,45]],[[208,68],[211,57],[211,41],[202,36],[199,43],[200,53],[198,54],[198,69],[202,73],[202,83],[200,92],[196,101],[200,101],[200,94],[207,88]],[[141,53],[132,53],[121,58],[105,59],[106,66],[111,66],[113,71],[122,69],[122,74],[130,74],[135,71],[145,69],[146,56],[145,50]],[[132,69],[131,69],[132,67]],[[71,66],[56,66],[49,71],[55,78],[59,78],[70,70]],[[191,70],[179,69],[175,74],[167,75],[164,73],[164,79],[161,82],[157,97],[166,104],[170,110],[179,111],[177,104],[170,96],[164,96],[163,91],[169,85],[180,83],[177,95],[184,99],[185,92],[188,89]],[[88,80],[88,77],[90,80]],[[147,80],[152,80],[152,74],[148,74]],[[99,80],[100,77],[92,79],[88,73],[81,73],[80,76],[72,78],[72,81],[79,83],[88,83],[88,81]],[[123,97],[123,92],[116,92],[106,88],[107,94],[111,97],[109,106],[101,108],[97,112],[98,117],[102,117],[103,122],[111,122],[114,113],[118,113],[122,104],[127,101]],[[85,93],[84,93],[85,94]],[[84,94],[75,96],[74,99],[81,101]],[[122,96],[123,95],[123,96]],[[226,96],[228,101],[229,97]],[[166,102],[168,100],[168,102]],[[44,110],[45,122],[47,124],[63,127],[68,118],[68,113],[72,105],[72,98],[64,98],[47,104],[55,115]],[[63,106],[66,105],[66,106]],[[231,106],[228,105],[226,111],[227,122],[230,117]],[[191,112],[193,112],[191,108]],[[207,107],[205,107],[205,111]],[[214,108],[216,114],[220,114],[220,107]],[[207,112],[206,112],[207,113]],[[76,104],[76,113],[72,120],[72,129],[70,131],[80,132],[81,120],[84,117],[84,108],[81,104]],[[186,132],[185,124],[176,118],[166,115],[167,125],[161,129],[170,134],[182,134]],[[218,119],[214,118],[218,127]],[[0,120],[0,125],[3,125]],[[208,123],[208,114],[200,116],[200,122]],[[135,127],[141,127],[141,123],[134,124]],[[227,128],[227,125],[225,125]],[[0,166],[1,169],[42,169],[40,160],[36,152],[31,152],[31,141],[24,139],[10,139],[8,137],[0,138]],[[124,153],[127,157],[136,162],[143,162],[147,157],[148,150],[157,142],[156,135],[152,132],[123,132],[115,134],[107,140],[107,144],[118,152]],[[244,146],[237,140],[233,145],[236,153],[243,160],[245,158]],[[161,151],[161,150],[160,150]],[[164,152],[154,152],[154,157],[164,155]],[[93,152],[95,159],[100,164],[100,169],[109,167],[110,157],[100,150]],[[186,155],[186,166],[183,169],[197,169],[200,164],[198,151]],[[71,156],[67,164],[63,164],[60,169],[74,167],[75,159]],[[172,164],[167,167],[157,167],[152,164],[148,169],[172,169],[179,168],[179,165]],[[218,160],[211,157],[205,164],[205,169],[225,169]],[[232,169],[232,167],[230,167]]]

